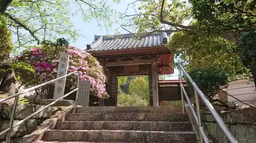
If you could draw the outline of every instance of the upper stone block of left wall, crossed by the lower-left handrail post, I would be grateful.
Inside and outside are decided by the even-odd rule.
[[[9,105],[9,119],[11,119],[11,114],[12,114],[12,108],[13,108],[13,104]],[[32,113],[35,112],[35,105],[33,104],[17,104],[16,107],[16,112],[15,112],[15,119],[19,120],[19,119],[25,119],[26,117],[30,116]]]

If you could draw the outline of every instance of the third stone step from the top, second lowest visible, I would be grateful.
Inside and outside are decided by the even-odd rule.
[[[192,131],[190,122],[136,122],[136,121],[65,121],[57,122],[57,130],[141,130]]]

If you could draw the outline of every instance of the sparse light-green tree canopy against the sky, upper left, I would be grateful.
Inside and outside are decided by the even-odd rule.
[[[119,0],[113,0],[119,2]],[[70,17],[81,13],[85,22],[96,19],[98,26],[111,27],[114,9],[108,1],[10,0],[1,1],[0,13],[15,37],[16,47],[67,35],[75,40],[81,34]],[[1,23],[0,23],[1,25]]]

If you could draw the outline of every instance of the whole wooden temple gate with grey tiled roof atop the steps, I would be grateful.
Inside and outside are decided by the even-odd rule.
[[[108,79],[106,91],[110,98],[101,106],[117,105],[117,76],[148,75],[151,106],[159,106],[158,76],[173,74],[173,53],[166,48],[172,33],[144,33],[143,40],[133,34],[95,36],[87,51],[100,62]]]

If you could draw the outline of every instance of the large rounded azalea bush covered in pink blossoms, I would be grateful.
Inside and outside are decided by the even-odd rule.
[[[103,73],[103,69],[99,62],[86,51],[82,51],[73,46],[42,46],[25,50],[22,55],[17,55],[14,58],[17,61],[25,61],[34,66],[35,74],[31,75],[31,77],[24,77],[31,78],[31,82],[26,83],[27,85],[33,85],[56,78],[59,56],[63,52],[70,55],[68,73],[79,71],[80,79],[90,81],[91,95],[94,95],[97,98],[108,97],[108,94],[105,92],[106,77]],[[67,77],[65,92],[75,89],[77,87],[76,83],[77,74]],[[50,88],[47,89],[47,92],[51,91],[48,94],[53,94],[54,86],[48,86],[46,88]]]

